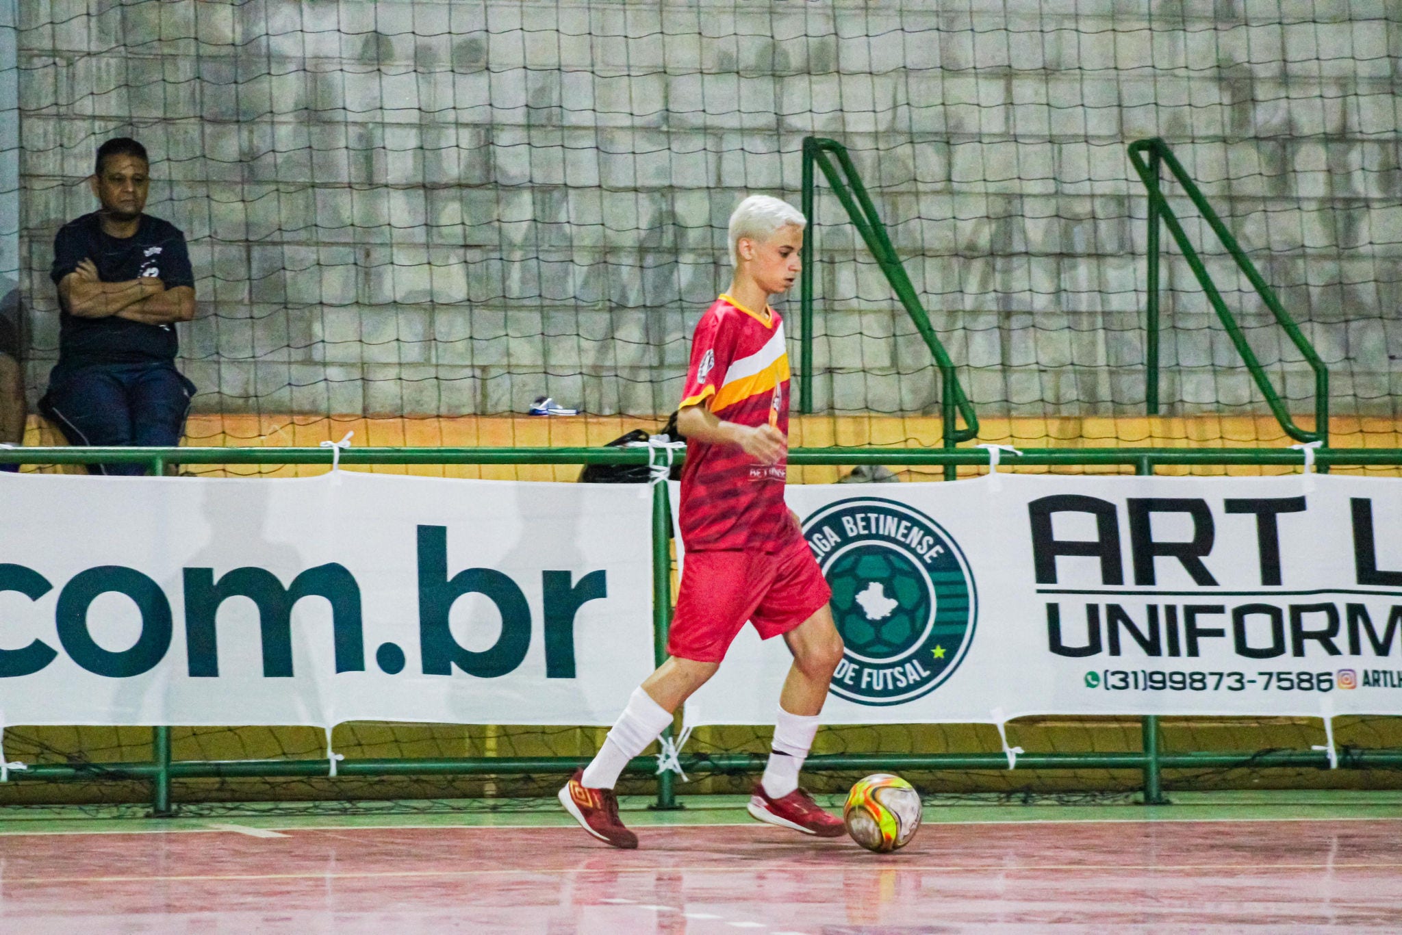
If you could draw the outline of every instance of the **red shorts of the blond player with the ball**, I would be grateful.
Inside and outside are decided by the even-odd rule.
[[[744,621],[761,639],[794,629],[833,596],[801,535],[778,552],[687,552],[667,655],[721,662]]]

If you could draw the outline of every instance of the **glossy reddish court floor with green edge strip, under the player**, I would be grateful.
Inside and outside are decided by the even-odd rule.
[[[627,803],[631,852],[545,810],[0,813],[0,932],[1402,931],[1402,796],[1366,802],[932,806],[893,855],[756,824],[737,802]]]

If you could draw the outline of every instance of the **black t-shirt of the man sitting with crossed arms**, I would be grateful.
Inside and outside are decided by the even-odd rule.
[[[102,282],[156,276],[167,289],[195,286],[185,234],[150,214],[142,214],[136,233],[126,238],[104,234],[97,212],[64,224],[53,238],[53,272],[49,275],[53,285],[84,259],[93,261]],[[175,325],[147,325],[115,315],[80,318],[70,315],[67,308],[59,313],[60,364],[170,362],[177,348]]]

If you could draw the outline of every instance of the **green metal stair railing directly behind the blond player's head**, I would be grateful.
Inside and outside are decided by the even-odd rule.
[[[885,273],[896,299],[900,300],[910,320],[916,322],[916,329],[920,331],[925,346],[935,357],[935,367],[939,370],[939,415],[944,422],[945,447],[953,449],[960,442],[977,437],[979,416],[959,384],[959,376],[955,373],[955,364],[949,359],[945,345],[935,334],[934,325],[930,324],[930,315],[920,304],[916,286],[910,282],[906,266],[900,262],[900,255],[890,243],[886,226],[882,223],[880,214],[876,213],[876,205],[866,192],[866,186],[862,185],[861,175],[857,172],[847,147],[837,140],[819,136],[803,137],[803,217],[808,219],[809,227],[808,237],[803,238],[803,272],[799,285],[802,332],[799,343],[799,412],[813,411],[813,250],[817,240],[815,167],[822,170],[837,200],[847,210],[847,217],[857,227],[866,250],[871,251],[876,265]],[[965,421],[962,429],[958,425],[960,416]],[[946,471],[946,479],[952,481],[952,465]]]

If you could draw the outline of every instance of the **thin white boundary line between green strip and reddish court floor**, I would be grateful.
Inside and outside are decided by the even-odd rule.
[[[1157,806],[1157,807],[1171,807],[1171,806]],[[1209,806],[1183,806],[1183,807],[1209,807]],[[1283,806],[1281,806],[1283,807]],[[1330,807],[1330,806],[1308,806],[1308,807]],[[1395,806],[1346,806],[1346,807],[1395,807]],[[20,819],[21,821],[29,819]],[[63,820],[63,819],[55,819]],[[104,819],[87,819],[87,820],[104,820]],[[125,821],[128,819],[107,819],[109,821]],[[142,819],[143,821],[153,821],[157,819]],[[175,819],[181,820],[181,819]],[[974,821],[925,821],[927,828],[945,828],[945,827],[963,827],[963,826],[1014,826],[1014,824],[1258,824],[1258,823],[1279,823],[1279,821],[1402,821],[1402,814],[1291,814],[1291,816],[1260,816],[1260,817],[1126,817],[1126,819],[979,819]],[[230,826],[231,827],[231,826]],[[59,837],[64,834],[192,834],[192,833],[210,833],[215,830],[230,830],[230,827],[216,828],[212,824],[205,824],[203,827],[170,827],[170,828],[111,828],[111,830],[45,830],[35,831],[29,828],[10,830],[4,827],[4,819],[0,819],[0,837]],[[250,827],[252,826],[243,826]],[[687,824],[637,824],[634,826],[641,831],[667,831],[676,828],[753,828],[756,831],[765,830],[763,823],[754,820],[737,820],[737,821],[697,821]],[[282,831],[279,837],[289,837],[300,831],[522,831],[522,830],[576,830],[576,824],[324,824],[324,826],[297,826],[297,824],[276,824],[269,828]]]

